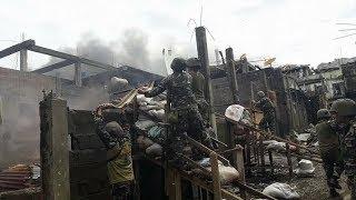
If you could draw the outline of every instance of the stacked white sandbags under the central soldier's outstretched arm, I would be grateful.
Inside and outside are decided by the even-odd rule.
[[[165,119],[165,106],[167,103],[165,96],[157,96],[155,98],[146,98],[144,94],[137,96],[139,109],[147,112],[151,117],[159,120]]]

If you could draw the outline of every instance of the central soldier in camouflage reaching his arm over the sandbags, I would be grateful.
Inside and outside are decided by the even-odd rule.
[[[211,147],[204,121],[199,113],[197,100],[191,89],[191,77],[184,70],[187,68],[186,60],[175,58],[170,64],[174,73],[165,78],[156,88],[150,91],[139,90],[146,97],[155,97],[167,90],[167,100],[170,102],[169,122],[174,126],[172,146],[179,153],[182,152],[181,134],[187,132],[191,138]],[[196,154],[197,156],[197,154]]]

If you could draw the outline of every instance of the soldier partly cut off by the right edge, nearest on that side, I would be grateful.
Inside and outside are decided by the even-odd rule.
[[[352,199],[356,200],[356,103],[350,99],[336,100],[332,104],[330,113],[335,118],[332,126],[338,133],[347,184]]]

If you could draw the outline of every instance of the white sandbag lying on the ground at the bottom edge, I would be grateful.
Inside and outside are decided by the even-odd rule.
[[[264,194],[277,199],[299,199],[300,196],[287,183],[275,182],[266,187],[263,191]]]

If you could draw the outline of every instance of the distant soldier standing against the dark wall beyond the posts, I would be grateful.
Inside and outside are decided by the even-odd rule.
[[[265,92],[257,92],[258,101],[255,106],[263,111],[264,118],[259,122],[259,128],[267,131],[275,132],[275,107],[273,102],[266,97]]]

